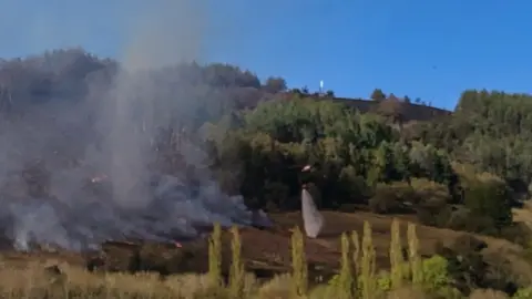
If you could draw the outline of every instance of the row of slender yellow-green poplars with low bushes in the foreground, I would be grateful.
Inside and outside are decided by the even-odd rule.
[[[407,246],[401,241],[401,224],[393,219],[390,229],[389,269],[379,268],[369,223],[364,224],[362,236],[354,230],[340,238],[341,258],[338,274],[323,281],[310,279],[309,261],[305,254],[305,237],[298,227],[291,235],[291,274],[283,279],[288,289],[263,288],[258,297],[267,298],[530,298],[528,285],[519,286],[511,278],[493,275],[479,251],[482,243],[470,236],[457,239],[451,247],[441,247],[438,255],[422,257],[416,225],[408,224]],[[232,260],[228,279],[224,283],[222,268],[222,229],[215,225],[209,238],[209,288],[216,298],[247,298],[242,243],[236,227],[232,233]],[[499,269],[500,270],[500,269]],[[275,279],[275,278],[274,278]],[[512,286],[510,286],[510,285]],[[488,289],[489,288],[489,289]],[[508,293],[508,295],[507,295]],[[497,297],[495,297],[497,296]]]

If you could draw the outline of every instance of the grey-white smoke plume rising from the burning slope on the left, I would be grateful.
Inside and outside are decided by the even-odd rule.
[[[149,171],[157,130],[181,128],[180,115],[193,113],[197,101],[162,71],[197,59],[207,20],[193,2],[154,1],[131,27],[112,83],[88,80],[81,104],[42,104],[31,118],[2,124],[0,216],[19,248],[32,241],[83,249],[124,237],[165,240],[197,236],[196,227],[213,221],[250,223],[242,198],[222,194],[202,167],[197,147],[181,147],[197,169],[197,184]],[[94,130],[86,128],[90,122]],[[84,156],[63,165],[73,152]],[[18,194],[22,178],[13,174],[33,167],[33,159],[44,161],[50,190]]]

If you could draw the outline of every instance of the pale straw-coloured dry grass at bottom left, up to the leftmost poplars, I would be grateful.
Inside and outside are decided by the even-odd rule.
[[[45,264],[0,269],[1,298],[219,298],[206,275],[185,274],[162,278],[155,274],[93,274],[61,265],[61,274],[45,270]],[[245,292],[257,292],[253,276],[245,279]],[[214,296],[214,297],[212,297]]]

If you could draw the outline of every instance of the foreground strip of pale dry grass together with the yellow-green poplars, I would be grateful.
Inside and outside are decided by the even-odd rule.
[[[160,277],[150,272],[92,274],[69,265],[31,264],[20,269],[2,264],[0,293],[2,298],[510,298],[492,289],[461,291],[449,271],[449,261],[439,255],[421,257],[416,225],[408,224],[407,231],[406,240],[401,240],[400,223],[393,220],[388,270],[376,267],[369,223],[365,223],[361,237],[357,231],[345,233],[339,269],[329,281],[308,279],[306,238],[298,227],[291,236],[293,271],[269,281],[246,274],[238,229],[232,228],[233,257],[228,277],[224,278],[222,229],[215,226],[207,274]],[[515,290],[512,298],[532,298],[532,288]]]

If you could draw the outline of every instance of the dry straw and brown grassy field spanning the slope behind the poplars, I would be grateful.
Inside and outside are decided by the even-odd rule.
[[[339,272],[341,260],[340,235],[357,231],[362,235],[364,223],[372,228],[372,246],[376,264],[381,270],[390,268],[391,217],[370,213],[324,212],[326,229],[318,239],[306,239],[305,254],[309,265],[309,297],[326,298],[323,281]],[[242,228],[242,257],[248,272],[245,278],[245,298],[288,298],[291,280],[290,229],[300,225],[300,215],[273,215],[277,227],[272,230]],[[407,219],[409,220],[409,219]],[[407,247],[406,221],[401,221],[402,246]],[[460,237],[469,235],[449,229],[417,225],[419,254],[431,256],[438,244],[451,246]],[[473,236],[473,235],[471,235]],[[524,260],[524,249],[507,240],[474,236],[485,241],[484,256],[503,256],[512,269],[526,279],[532,269]],[[231,266],[231,236],[222,235],[222,274],[227,276]],[[184,244],[184,248],[144,244],[109,250],[119,266],[117,272],[85,270],[86,257],[75,252],[3,251],[0,267],[1,298],[225,298],[209,287],[205,275],[208,270],[208,244],[206,240]],[[131,274],[131,250],[139,252],[137,269],[154,272]],[[186,251],[191,254],[186,254]],[[122,265],[122,266],[120,266]],[[57,266],[49,267],[49,266]],[[49,267],[49,268],[47,268]],[[48,295],[47,295],[48,293]],[[391,293],[391,292],[390,292]],[[391,296],[388,293],[387,296]],[[47,297],[48,296],[48,297]],[[421,296],[421,297],[420,297]],[[389,298],[427,298],[411,288],[393,291]],[[473,297],[477,296],[477,297]],[[490,297],[495,296],[495,297]],[[497,297],[499,296],[499,297]],[[475,291],[471,298],[505,298],[495,292]]]

